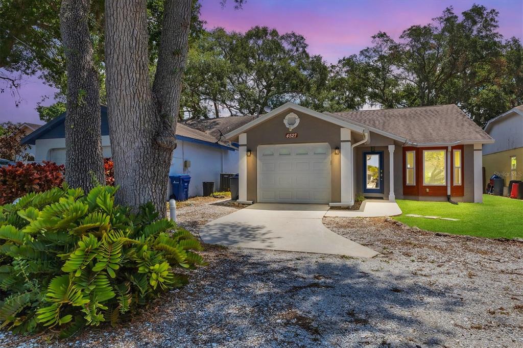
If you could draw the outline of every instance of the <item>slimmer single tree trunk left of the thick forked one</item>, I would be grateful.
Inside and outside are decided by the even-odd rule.
[[[65,180],[89,191],[105,184],[98,73],[90,41],[89,0],[62,0],[60,31],[67,69]]]

